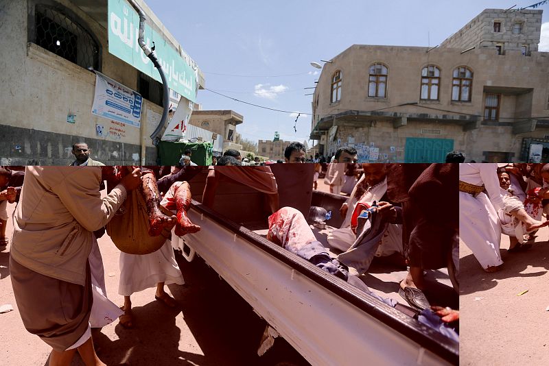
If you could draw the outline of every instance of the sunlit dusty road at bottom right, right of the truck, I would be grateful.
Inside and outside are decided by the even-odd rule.
[[[508,253],[503,235],[504,267],[496,273],[460,247],[460,365],[549,364],[548,239],[543,228],[530,250]]]

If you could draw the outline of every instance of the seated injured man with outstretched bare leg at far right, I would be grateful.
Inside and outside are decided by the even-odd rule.
[[[524,210],[524,204],[510,188],[511,180],[509,173],[500,171],[498,172],[498,178],[500,180],[501,195],[504,203],[503,209],[498,211],[498,216],[502,223],[502,232],[510,236],[508,252],[520,252],[532,247],[532,244],[523,244],[524,234],[549,225],[549,221],[544,223],[528,215],[526,210]]]

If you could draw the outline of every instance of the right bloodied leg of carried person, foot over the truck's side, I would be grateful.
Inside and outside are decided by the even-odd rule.
[[[177,210],[175,234],[183,236],[200,231],[200,226],[191,222],[187,211],[191,206],[191,190],[187,182],[174,182],[164,196],[164,207],[168,210]]]

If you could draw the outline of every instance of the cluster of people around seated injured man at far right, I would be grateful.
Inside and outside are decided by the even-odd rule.
[[[460,164],[460,241],[487,272],[503,266],[502,234],[509,253],[533,246],[535,233],[549,225],[549,164]]]

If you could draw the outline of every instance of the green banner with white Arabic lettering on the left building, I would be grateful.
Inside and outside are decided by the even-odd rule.
[[[139,15],[128,1],[108,0],[108,51],[154,80],[162,82],[160,73],[139,47],[138,36]],[[180,56],[179,52],[148,24],[145,24],[144,40],[149,48],[154,41],[154,53],[162,65],[170,88],[196,102],[198,68],[191,58],[183,51],[183,56]],[[194,67],[191,67],[191,64]]]

